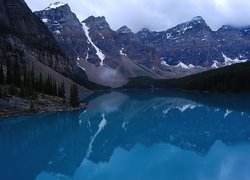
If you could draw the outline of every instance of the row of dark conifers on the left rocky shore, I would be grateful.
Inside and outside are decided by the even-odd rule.
[[[16,59],[13,63],[7,58],[5,61],[6,73],[3,69],[3,61],[0,64],[0,97],[7,94],[19,96],[21,98],[36,98],[37,92],[42,95],[58,96],[65,102],[65,83],[57,83],[51,75],[44,76],[42,73],[36,74],[34,67],[32,70],[23,68],[21,72],[20,64]],[[4,88],[3,88],[4,87]],[[77,85],[70,88],[71,106],[79,105]]]

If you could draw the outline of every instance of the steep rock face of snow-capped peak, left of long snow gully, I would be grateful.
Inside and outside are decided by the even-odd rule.
[[[78,57],[84,57],[91,46],[76,15],[67,4],[58,4],[57,8],[46,8],[34,12],[49,28],[72,65],[76,65]]]

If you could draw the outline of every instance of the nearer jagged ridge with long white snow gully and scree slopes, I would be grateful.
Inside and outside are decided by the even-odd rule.
[[[34,13],[48,26],[73,67],[80,67],[97,84],[120,87],[133,77],[164,79],[203,70],[166,66],[157,50],[143,44],[127,26],[114,31],[105,17],[94,16],[80,22],[68,4],[53,3]]]

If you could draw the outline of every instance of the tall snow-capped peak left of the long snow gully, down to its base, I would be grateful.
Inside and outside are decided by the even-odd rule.
[[[69,59],[73,73],[72,79],[89,89],[105,88],[88,81],[85,71],[78,66],[77,60],[94,48],[87,43],[82,24],[71,12],[68,4],[57,2],[50,4],[44,11],[34,12],[45,23],[58,45]],[[97,57],[95,57],[97,58]]]

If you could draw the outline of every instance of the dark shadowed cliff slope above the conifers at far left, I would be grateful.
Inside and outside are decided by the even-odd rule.
[[[21,63],[39,60],[55,71],[70,75],[68,59],[48,28],[23,0],[0,0],[0,59]]]

